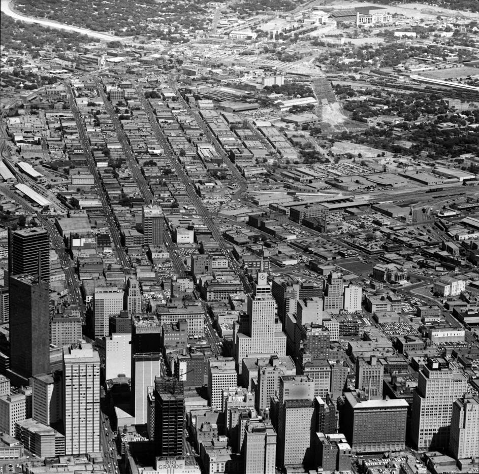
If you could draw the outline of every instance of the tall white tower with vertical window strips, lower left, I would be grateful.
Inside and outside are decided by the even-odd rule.
[[[100,356],[91,344],[63,350],[66,454],[100,451]]]

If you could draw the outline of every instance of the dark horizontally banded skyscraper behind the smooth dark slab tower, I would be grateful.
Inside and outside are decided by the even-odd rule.
[[[27,227],[11,232],[9,241],[10,275],[37,275],[39,252],[42,280],[50,282],[50,238],[45,229]]]

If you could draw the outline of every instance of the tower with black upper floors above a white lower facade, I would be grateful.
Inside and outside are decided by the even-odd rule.
[[[135,316],[132,326],[132,411],[136,424],[147,422],[148,387],[161,374],[162,327],[155,316]]]

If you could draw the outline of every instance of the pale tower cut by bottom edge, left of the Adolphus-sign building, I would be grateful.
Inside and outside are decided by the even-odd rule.
[[[276,431],[271,422],[246,422],[242,451],[244,474],[275,474]]]

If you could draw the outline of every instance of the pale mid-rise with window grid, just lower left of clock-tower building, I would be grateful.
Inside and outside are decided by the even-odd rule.
[[[223,390],[238,385],[235,360],[232,357],[211,357],[208,363],[208,404],[216,410],[222,409]]]

